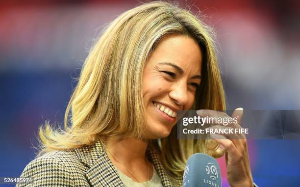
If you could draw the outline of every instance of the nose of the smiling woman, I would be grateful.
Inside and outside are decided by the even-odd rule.
[[[184,106],[188,102],[188,91],[186,82],[178,82],[173,85],[169,96],[178,106]]]

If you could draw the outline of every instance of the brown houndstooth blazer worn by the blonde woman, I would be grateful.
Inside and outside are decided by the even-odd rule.
[[[148,147],[147,155],[164,187],[181,187],[182,179],[172,177],[159,155]],[[31,184],[17,187],[123,187],[114,165],[100,142],[82,148],[55,151],[29,162],[21,178],[32,178]]]

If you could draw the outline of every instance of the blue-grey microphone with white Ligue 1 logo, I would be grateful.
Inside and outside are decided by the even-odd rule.
[[[203,153],[192,155],[184,168],[182,187],[222,187],[217,160]]]

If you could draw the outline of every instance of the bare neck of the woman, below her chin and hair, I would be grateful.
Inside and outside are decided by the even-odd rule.
[[[118,160],[128,165],[145,163],[148,142],[126,137],[121,140],[108,139],[105,148]]]

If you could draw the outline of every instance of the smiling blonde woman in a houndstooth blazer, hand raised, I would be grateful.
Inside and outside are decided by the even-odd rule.
[[[230,186],[253,186],[246,140],[176,138],[177,110],[225,109],[211,35],[167,2],[121,14],[84,62],[65,130],[40,128],[41,152],[21,177],[33,186],[181,186],[189,156],[226,149]]]

